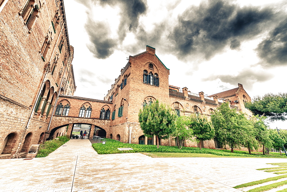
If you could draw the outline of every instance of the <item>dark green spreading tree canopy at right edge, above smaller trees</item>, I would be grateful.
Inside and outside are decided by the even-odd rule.
[[[256,96],[245,107],[254,115],[269,117],[271,121],[287,120],[287,93],[267,93],[263,97]]]

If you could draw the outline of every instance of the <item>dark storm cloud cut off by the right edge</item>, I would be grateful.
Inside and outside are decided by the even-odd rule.
[[[287,65],[287,19],[281,22],[257,47],[262,66]]]

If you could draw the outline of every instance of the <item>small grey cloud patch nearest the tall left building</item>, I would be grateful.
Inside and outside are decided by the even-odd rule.
[[[85,29],[91,41],[87,47],[94,54],[94,57],[106,59],[113,54],[117,40],[110,38],[110,29],[104,22],[94,22],[88,15]]]

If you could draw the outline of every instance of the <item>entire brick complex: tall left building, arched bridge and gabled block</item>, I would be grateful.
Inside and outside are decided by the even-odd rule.
[[[155,145],[138,122],[139,110],[155,100],[178,115],[210,116],[222,102],[251,115],[244,107],[251,99],[241,84],[208,97],[169,85],[169,69],[150,46],[129,56],[104,100],[73,96],[73,47],[63,0],[0,0],[0,46],[0,159],[26,157],[31,145],[85,131],[85,138]],[[172,138],[160,142],[175,145]],[[213,140],[200,145],[217,147]]]

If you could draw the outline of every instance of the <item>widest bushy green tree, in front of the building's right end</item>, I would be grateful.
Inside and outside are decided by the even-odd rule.
[[[235,109],[230,109],[228,103],[223,103],[211,115],[212,124],[215,129],[216,139],[222,145],[229,145],[233,153],[234,147],[241,145],[255,146],[254,140],[248,137],[253,133],[251,123],[244,114],[236,113]]]

